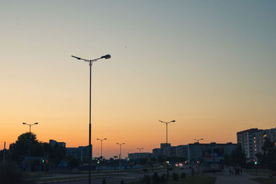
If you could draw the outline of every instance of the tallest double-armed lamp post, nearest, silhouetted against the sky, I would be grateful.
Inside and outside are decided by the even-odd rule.
[[[86,61],[89,63],[90,66],[90,92],[89,92],[89,158],[88,158],[88,183],[91,183],[91,159],[92,159],[92,146],[91,146],[91,70],[92,70],[92,63],[98,61],[99,59],[110,59],[110,55],[107,54],[105,56],[99,57],[97,59],[82,59],[80,57],[72,56],[75,59]]]

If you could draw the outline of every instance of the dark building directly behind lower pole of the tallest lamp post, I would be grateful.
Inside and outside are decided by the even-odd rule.
[[[92,148],[92,145],[91,145]],[[81,162],[86,162],[89,159],[89,145],[79,146],[79,147],[66,147],[66,154],[74,156],[77,160]],[[91,149],[92,156],[92,149]]]

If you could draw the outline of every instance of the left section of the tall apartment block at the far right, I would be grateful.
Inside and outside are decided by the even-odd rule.
[[[257,128],[251,128],[249,130],[244,130],[241,132],[237,132],[237,143],[242,145],[242,149],[246,154],[246,158],[249,161],[253,161],[255,159],[254,153],[254,135],[257,132],[261,132],[263,130],[259,130]]]

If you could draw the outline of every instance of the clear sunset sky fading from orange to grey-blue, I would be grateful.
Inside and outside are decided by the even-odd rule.
[[[0,1],[0,149],[39,141],[93,156],[166,142],[237,143],[276,125],[276,1]]]

